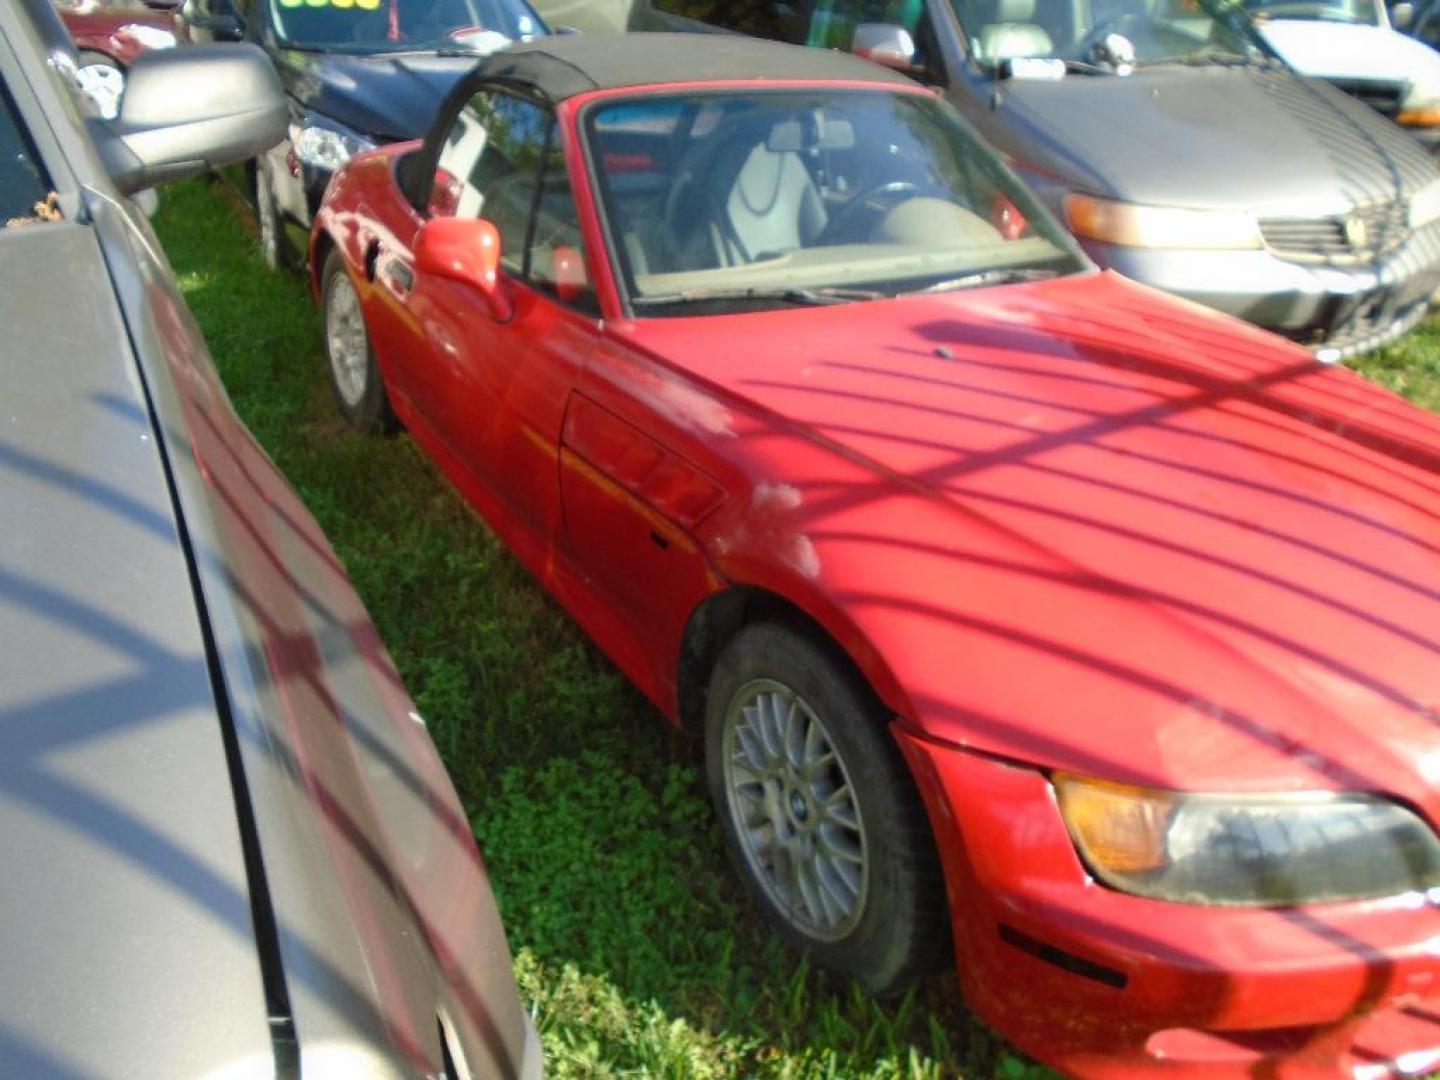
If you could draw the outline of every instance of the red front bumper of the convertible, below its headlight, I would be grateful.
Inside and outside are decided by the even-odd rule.
[[[1440,1067],[1440,912],[1423,897],[1126,896],[1089,877],[1040,772],[894,730],[936,831],[966,1001],[1021,1050],[1084,1077]]]

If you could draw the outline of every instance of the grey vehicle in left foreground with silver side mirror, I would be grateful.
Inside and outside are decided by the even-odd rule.
[[[131,196],[251,157],[264,53],[82,112],[0,4],[0,1076],[539,1077],[464,811]]]

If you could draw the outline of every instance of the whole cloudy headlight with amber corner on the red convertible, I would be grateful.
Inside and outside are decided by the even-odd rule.
[[[1080,857],[1125,893],[1277,907],[1440,884],[1434,831],[1374,795],[1187,795],[1053,779]]]

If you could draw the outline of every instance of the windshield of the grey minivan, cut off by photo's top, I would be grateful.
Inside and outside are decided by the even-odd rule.
[[[1064,63],[1087,73],[1158,63],[1266,62],[1269,50],[1234,0],[952,0],[982,68]],[[1063,73],[1063,72],[1061,72]]]

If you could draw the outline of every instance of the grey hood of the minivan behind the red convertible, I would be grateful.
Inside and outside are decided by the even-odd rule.
[[[1287,71],[1172,66],[998,89],[994,135],[1021,167],[1128,202],[1323,216],[1436,177],[1398,127]]]

